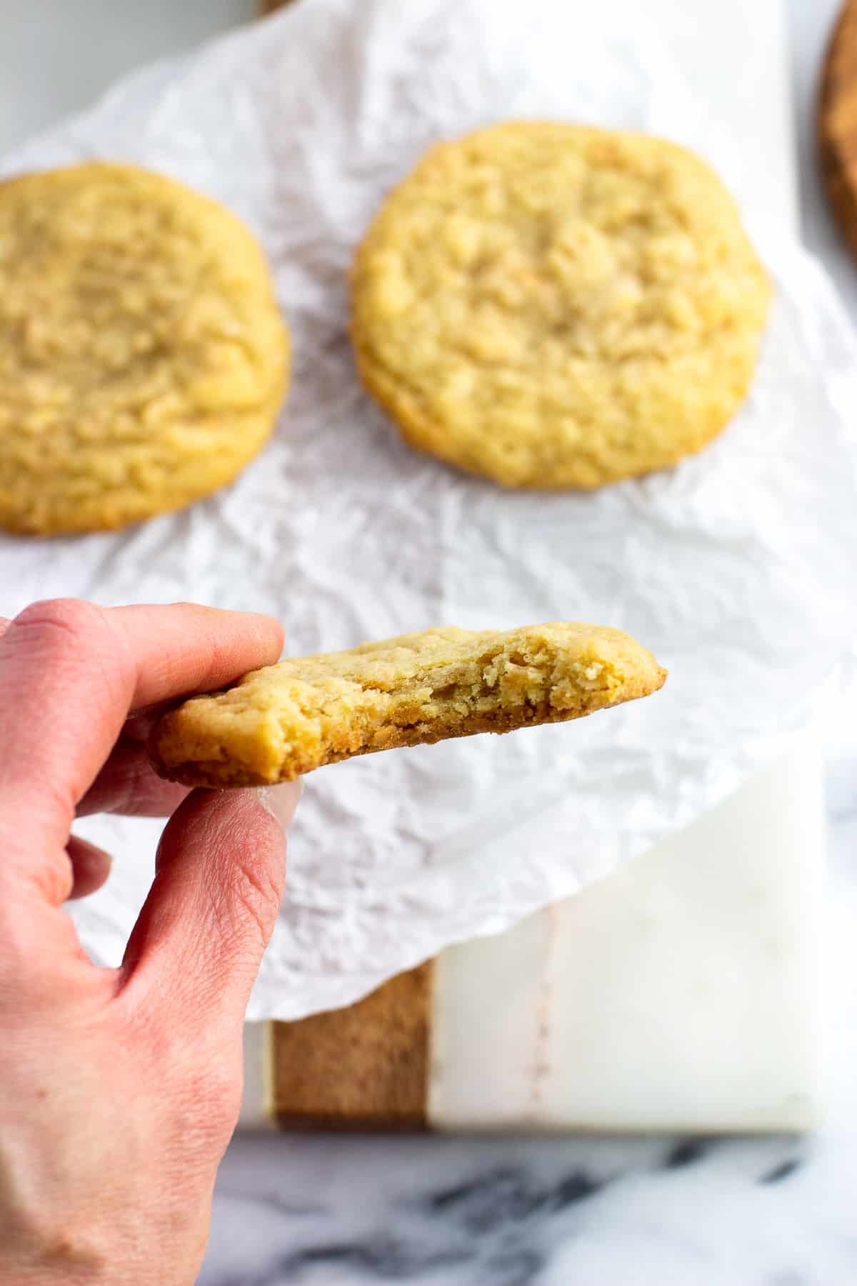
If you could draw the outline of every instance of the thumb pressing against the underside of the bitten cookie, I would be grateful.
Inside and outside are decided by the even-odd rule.
[[[127,986],[173,1020],[209,1035],[243,1021],[283,899],[298,796],[294,782],[193,791],[170,818],[122,967]]]

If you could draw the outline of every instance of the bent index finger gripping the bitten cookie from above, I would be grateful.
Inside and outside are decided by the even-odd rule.
[[[14,747],[0,760],[10,860],[27,865],[45,842],[64,846],[75,805],[128,710],[222,687],[275,661],[281,640],[269,617],[188,603],[102,608],[55,599],[26,608],[0,638],[0,745]],[[57,869],[33,873],[58,900]]]

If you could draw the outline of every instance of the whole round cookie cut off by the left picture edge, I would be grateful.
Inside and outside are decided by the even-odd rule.
[[[224,207],[126,165],[0,184],[0,526],[208,495],[270,436],[288,374],[265,257]]]

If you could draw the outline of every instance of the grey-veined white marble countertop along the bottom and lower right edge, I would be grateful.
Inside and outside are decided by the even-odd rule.
[[[857,754],[827,787],[839,990],[813,1136],[236,1137],[200,1286],[853,1286]]]

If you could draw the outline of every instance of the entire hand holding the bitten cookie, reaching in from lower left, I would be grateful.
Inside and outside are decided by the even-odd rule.
[[[0,1281],[188,1286],[238,1119],[244,1010],[298,792],[161,782],[145,710],[276,661],[281,630],[71,599],[3,626]],[[91,811],[172,813],[117,970],[89,961],[63,908],[109,869],[69,838]]]

